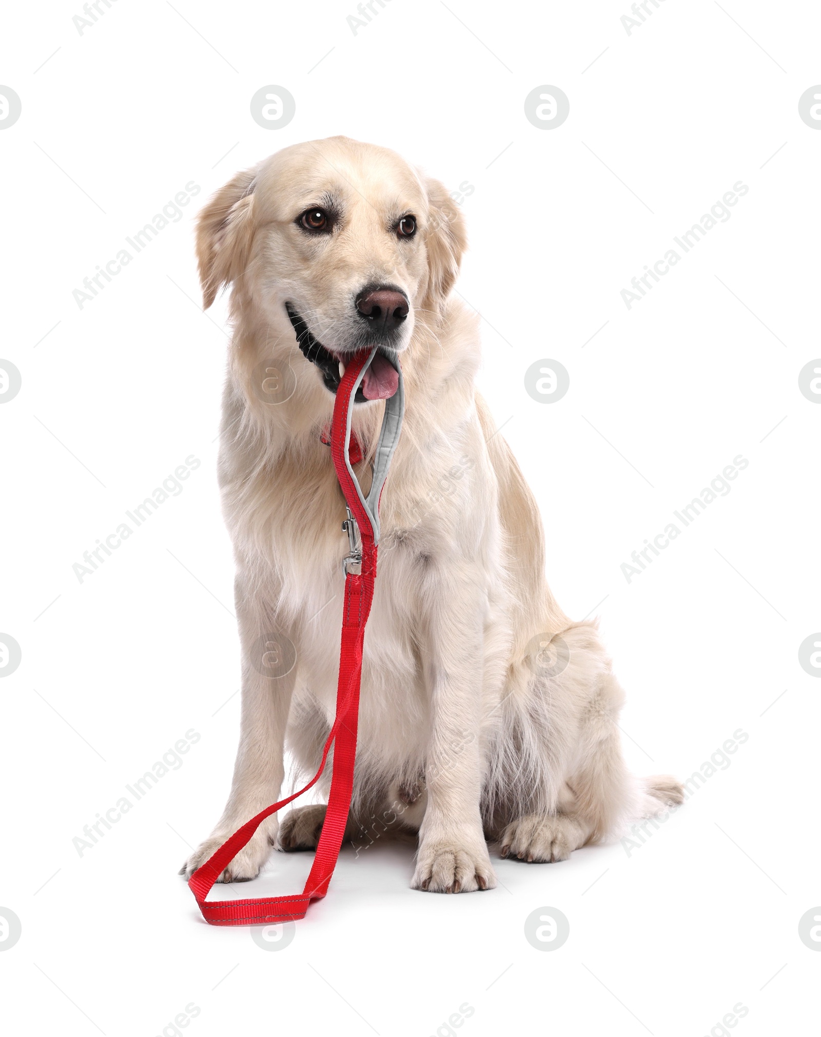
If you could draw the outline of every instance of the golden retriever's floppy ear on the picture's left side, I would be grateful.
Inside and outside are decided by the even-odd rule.
[[[254,169],[237,173],[214,195],[197,219],[197,261],[202,308],[208,309],[223,284],[245,270],[253,239]]]

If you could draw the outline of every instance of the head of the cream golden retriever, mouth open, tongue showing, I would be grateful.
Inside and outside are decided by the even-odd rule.
[[[294,339],[335,392],[346,358],[379,346],[364,398],[390,396],[380,354],[408,348],[414,325],[441,312],[465,230],[444,187],[393,151],[346,137],[297,144],[238,173],[199,215],[204,307],[225,284]]]

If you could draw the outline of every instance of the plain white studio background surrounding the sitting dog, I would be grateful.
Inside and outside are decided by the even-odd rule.
[[[821,82],[821,10],[664,0],[628,34],[626,0],[374,6],[356,34],[353,0],[112,0],[82,34],[79,0],[4,15],[0,81],[23,105],[0,133],[2,356],[23,379],[0,407],[0,630],[23,651],[0,682],[0,904],[22,921],[0,954],[4,1021],[703,1037],[740,1002],[741,1037],[811,1032],[821,954],[798,920],[821,903],[821,683],[798,646],[821,628],[821,407],[798,372],[821,357],[821,133],[798,99]],[[275,131],[249,113],[268,84],[296,99]],[[547,132],[523,109],[543,84],[570,99]],[[686,778],[749,737],[630,856],[494,859],[498,889],[446,897],[408,888],[412,847],[345,850],[268,953],[207,926],[175,874],[222,809],[239,716],[215,477],[226,311],[199,309],[192,232],[236,170],[332,134],[474,189],[458,289],[484,318],[482,389],[538,496],[559,601],[602,617],[630,765]],[[183,219],[80,309],[83,278],[191,180]],[[628,310],[630,279],[738,180],[731,219]],[[570,372],[549,405],[524,391],[540,359]],[[190,454],[183,492],[80,583],[83,552]],[[628,583],[631,552],[737,454],[732,492]],[[189,729],[183,765],[78,856]],[[274,854],[237,892],[296,892],[309,860]],[[543,906],[570,921],[550,953],[523,933]]]

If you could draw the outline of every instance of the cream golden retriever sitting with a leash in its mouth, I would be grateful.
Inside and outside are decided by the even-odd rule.
[[[477,317],[451,293],[465,245],[441,184],[345,137],[238,173],[199,215],[204,306],[231,287],[219,478],[243,666],[230,795],[187,876],[277,800],[286,749],[300,773],[319,765],[348,554],[323,430],[346,358],[374,344],[353,416],[365,492],[396,391],[386,357],[401,361],[406,415],[382,495],[346,838],[417,835],[412,887],[465,893],[496,885],[489,842],[564,861],[682,802],[674,779],[628,773],[597,622],[570,620],[548,588],[536,501],[474,388]],[[324,815],[271,817],[221,880],[253,878],[272,846],[316,847]]]

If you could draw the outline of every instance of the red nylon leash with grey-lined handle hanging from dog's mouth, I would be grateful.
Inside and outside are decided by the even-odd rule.
[[[377,545],[379,543],[379,498],[390,467],[390,459],[399,442],[405,397],[402,371],[399,364],[399,388],[395,394],[385,400],[385,416],[374,457],[374,477],[371,489],[365,496],[354,474],[350,456],[351,415],[354,397],[367,367],[376,356],[377,347],[371,353],[358,354],[346,368],[336,401],[333,407],[331,424],[331,455],[336,476],[339,480],[348,507],[348,522],[344,528],[348,532],[351,554],[345,559],[345,604],[343,606],[343,632],[339,648],[339,679],[336,688],[336,717],[322,753],[322,762],[317,774],[301,788],[279,803],[266,807],[250,821],[220,846],[188,881],[196,897],[202,917],[211,925],[254,925],[275,924],[304,918],[311,900],[324,897],[328,884],[336,867],[339,848],[348,822],[351,794],[354,786],[354,760],[356,757],[356,731],[359,719],[359,685],[362,677],[362,643],[365,623],[374,598],[374,581],[377,573]],[[392,361],[391,361],[392,363]],[[355,464],[355,460],[353,461]],[[356,533],[359,532],[359,541]],[[244,900],[216,900],[208,902],[206,897],[217,881],[226,865],[246,845],[262,822],[281,810],[286,804],[302,795],[314,785],[325,768],[328,753],[333,745],[333,770],[331,790],[325,822],[322,826],[317,856],[310,869],[305,888],[300,894],[281,897],[256,897]]]

